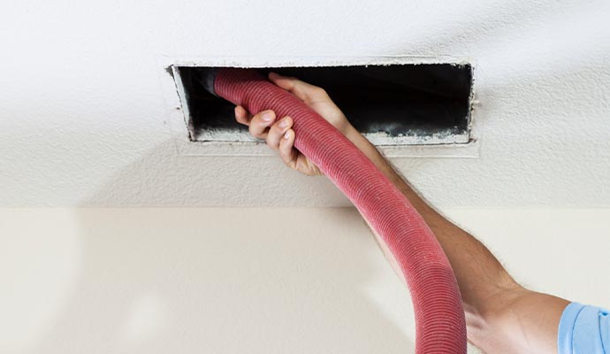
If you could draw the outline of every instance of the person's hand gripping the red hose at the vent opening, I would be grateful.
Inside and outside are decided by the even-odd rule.
[[[343,135],[347,135],[352,129],[343,112],[332,102],[324,89],[278,73],[270,73],[269,80],[301,99],[328,120],[332,126],[339,129]],[[235,107],[235,119],[248,126],[251,135],[265,140],[272,150],[278,151],[279,156],[288,167],[309,176],[323,174],[316,165],[294,148],[294,130],[292,128],[294,121],[292,118],[286,116],[277,119],[273,111],[263,111],[255,116],[250,116],[246,109],[238,105]]]

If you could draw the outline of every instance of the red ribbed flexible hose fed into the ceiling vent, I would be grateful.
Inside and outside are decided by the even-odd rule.
[[[298,98],[248,69],[218,70],[217,96],[294,120],[294,146],[355,204],[400,265],[416,316],[416,353],[466,353],[460,290],[445,253],[407,198],[369,158]]]

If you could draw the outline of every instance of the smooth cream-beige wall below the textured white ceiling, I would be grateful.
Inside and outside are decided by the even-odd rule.
[[[447,210],[533,289],[610,305],[610,210]],[[2,353],[411,352],[353,209],[0,211]]]

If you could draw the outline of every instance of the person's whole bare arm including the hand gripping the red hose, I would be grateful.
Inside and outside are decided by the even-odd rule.
[[[454,268],[470,342],[490,353],[557,352],[557,327],[561,312],[568,304],[566,300],[517,284],[481,242],[456,227],[417,195],[377,149],[349,124],[324,90],[277,74],[270,74],[270,80],[328,119],[377,165],[422,215]],[[264,139],[271,149],[279,152],[286,165],[302,173],[320,174],[309,159],[294,149],[292,119],[277,118],[273,112],[249,117],[241,107],[237,107],[235,113],[238,121],[249,126],[252,135]],[[383,242],[380,245],[383,249]],[[392,255],[385,253],[394,264]]]

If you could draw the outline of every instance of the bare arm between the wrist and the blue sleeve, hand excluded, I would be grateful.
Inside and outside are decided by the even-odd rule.
[[[483,243],[426,204],[360,133],[349,128],[346,135],[407,196],[437,237],[460,287],[469,340],[490,353],[556,352],[557,324],[568,301],[523,289]]]

